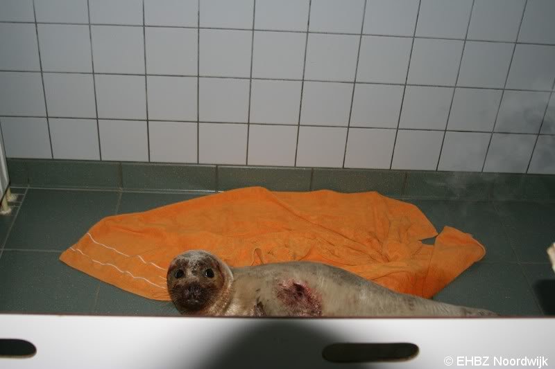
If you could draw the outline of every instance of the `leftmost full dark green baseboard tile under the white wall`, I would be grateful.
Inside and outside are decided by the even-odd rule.
[[[26,166],[28,185],[31,187],[110,189],[121,187],[117,162],[29,160]]]

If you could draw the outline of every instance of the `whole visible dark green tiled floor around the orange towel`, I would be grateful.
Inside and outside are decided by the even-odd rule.
[[[341,181],[341,179],[339,179]],[[147,210],[206,192],[12,188],[0,216],[0,312],[176,315],[171,303],[129,294],[58,260],[102,217]],[[409,199],[438,231],[472,233],[487,249],[434,299],[509,315],[555,314],[555,202]],[[477,192],[477,199],[481,199]]]

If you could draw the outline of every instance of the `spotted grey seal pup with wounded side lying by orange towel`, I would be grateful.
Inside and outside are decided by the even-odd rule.
[[[196,316],[495,316],[391,291],[318,262],[230,268],[207,251],[176,256],[167,273],[173,305]]]

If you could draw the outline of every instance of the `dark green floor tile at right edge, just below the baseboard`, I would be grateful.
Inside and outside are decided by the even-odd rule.
[[[555,204],[496,201],[495,207],[520,262],[549,262],[554,242]]]

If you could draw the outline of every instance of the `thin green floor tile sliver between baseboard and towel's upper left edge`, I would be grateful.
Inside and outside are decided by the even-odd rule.
[[[137,213],[139,211],[151,210],[160,206],[174,204],[179,201],[194,199],[195,197],[205,196],[203,193],[144,193],[144,192],[123,192],[119,203],[118,214]]]

